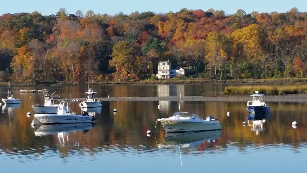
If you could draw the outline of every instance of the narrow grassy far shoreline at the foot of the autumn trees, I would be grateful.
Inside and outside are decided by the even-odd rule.
[[[307,78],[268,78],[268,79],[204,79],[204,78],[182,78],[182,79],[161,79],[161,80],[141,80],[141,81],[103,81],[103,82],[90,82],[94,85],[126,85],[126,84],[197,84],[197,83],[282,83],[282,82],[307,82]],[[11,82],[11,86],[76,86],[83,85],[86,82]],[[8,82],[0,82],[0,86],[7,86]]]

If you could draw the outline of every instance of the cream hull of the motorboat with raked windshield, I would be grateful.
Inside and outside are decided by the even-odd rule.
[[[189,122],[169,119],[158,119],[158,121],[168,133],[221,130],[221,124],[218,121]]]

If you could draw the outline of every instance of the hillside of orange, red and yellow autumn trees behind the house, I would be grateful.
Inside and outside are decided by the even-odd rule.
[[[0,17],[0,81],[142,80],[157,62],[207,79],[305,77],[307,13],[188,10],[167,14]]]

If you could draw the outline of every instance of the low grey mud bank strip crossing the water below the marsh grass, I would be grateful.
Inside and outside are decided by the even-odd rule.
[[[110,97],[96,98],[100,101],[179,101],[179,96],[168,97]],[[84,101],[86,98],[74,98]],[[56,100],[56,99],[55,99]],[[72,99],[61,99],[72,100]],[[181,101],[203,101],[203,102],[248,102],[251,100],[249,95],[220,95],[220,96],[181,96]],[[307,94],[290,95],[267,95],[263,98],[264,102],[289,102],[307,103]]]

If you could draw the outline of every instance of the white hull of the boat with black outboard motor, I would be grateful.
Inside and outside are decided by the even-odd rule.
[[[35,114],[34,117],[43,124],[92,122],[92,117],[86,115]]]

